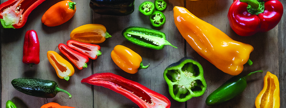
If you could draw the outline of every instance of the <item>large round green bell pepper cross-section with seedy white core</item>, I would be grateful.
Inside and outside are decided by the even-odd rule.
[[[163,76],[171,97],[178,102],[203,95],[207,87],[203,67],[191,57],[169,65]]]

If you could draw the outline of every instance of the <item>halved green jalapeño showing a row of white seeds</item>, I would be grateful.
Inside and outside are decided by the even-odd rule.
[[[166,40],[166,35],[162,31],[145,27],[127,27],[122,31],[122,36],[128,41],[147,48],[161,50],[165,45],[171,45]]]

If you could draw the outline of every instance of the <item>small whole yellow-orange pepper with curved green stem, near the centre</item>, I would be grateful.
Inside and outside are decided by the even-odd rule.
[[[131,74],[136,73],[139,69],[147,69],[150,65],[143,66],[141,56],[122,45],[116,45],[113,48],[111,58],[119,68]]]

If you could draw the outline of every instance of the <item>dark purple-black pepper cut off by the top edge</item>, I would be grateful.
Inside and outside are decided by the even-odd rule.
[[[126,16],[134,11],[135,0],[90,0],[90,8],[100,15]]]

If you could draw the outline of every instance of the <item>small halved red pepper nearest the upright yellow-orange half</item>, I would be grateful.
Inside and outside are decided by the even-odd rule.
[[[71,48],[69,48],[67,45],[65,44],[59,44],[58,45],[58,49],[62,52],[62,54],[64,54],[65,56],[67,56],[67,58],[69,60],[71,60],[71,62],[73,64],[76,65],[77,69],[82,69],[82,68],[86,68],[87,67],[87,62],[89,61],[89,58],[83,54],[81,54],[80,52],[77,52]]]

